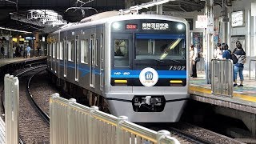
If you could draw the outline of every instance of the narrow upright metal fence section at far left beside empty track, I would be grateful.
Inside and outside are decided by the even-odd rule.
[[[6,143],[18,143],[19,81],[6,74],[4,78],[4,105],[6,123]]]

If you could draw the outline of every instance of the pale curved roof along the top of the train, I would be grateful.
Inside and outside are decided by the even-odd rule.
[[[187,23],[184,18],[178,18],[167,15],[157,15],[157,14],[129,14],[129,15],[118,15],[118,11],[103,12],[100,14],[94,14],[88,18],[84,18],[81,22],[70,23],[66,26],[62,26],[59,30],[53,32],[57,33],[59,31],[73,30],[84,26],[95,26],[101,25],[106,22],[112,23],[116,21],[129,20],[129,19],[162,19],[170,20],[173,19],[177,22]]]

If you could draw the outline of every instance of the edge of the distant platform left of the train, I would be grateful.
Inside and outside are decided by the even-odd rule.
[[[14,62],[29,62],[37,59],[43,59],[46,58],[46,56],[39,56],[39,57],[32,57],[32,58],[23,58],[23,57],[18,57],[18,58],[2,58],[0,59],[0,67],[8,65],[10,63]]]

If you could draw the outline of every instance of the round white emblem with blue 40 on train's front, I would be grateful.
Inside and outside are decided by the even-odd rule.
[[[154,86],[158,82],[158,72],[151,67],[146,67],[139,74],[143,86]]]

